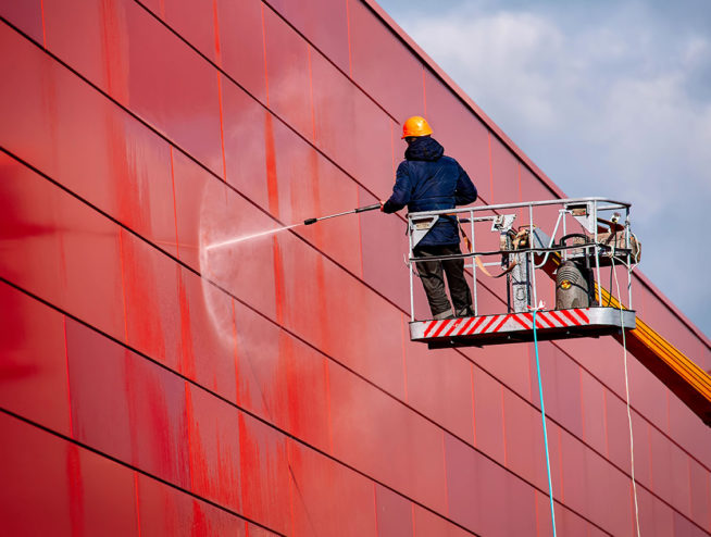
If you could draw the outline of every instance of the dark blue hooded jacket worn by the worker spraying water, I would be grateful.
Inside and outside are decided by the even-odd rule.
[[[383,211],[394,213],[404,205],[411,213],[453,209],[476,201],[476,187],[466,172],[434,138],[416,138],[404,152],[398,166],[392,196]],[[420,241],[421,246],[459,245],[459,225],[454,216],[440,215],[439,221]]]

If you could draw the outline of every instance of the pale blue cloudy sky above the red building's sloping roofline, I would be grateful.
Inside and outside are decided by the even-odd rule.
[[[632,202],[639,268],[709,337],[711,1],[378,3],[566,196]]]

